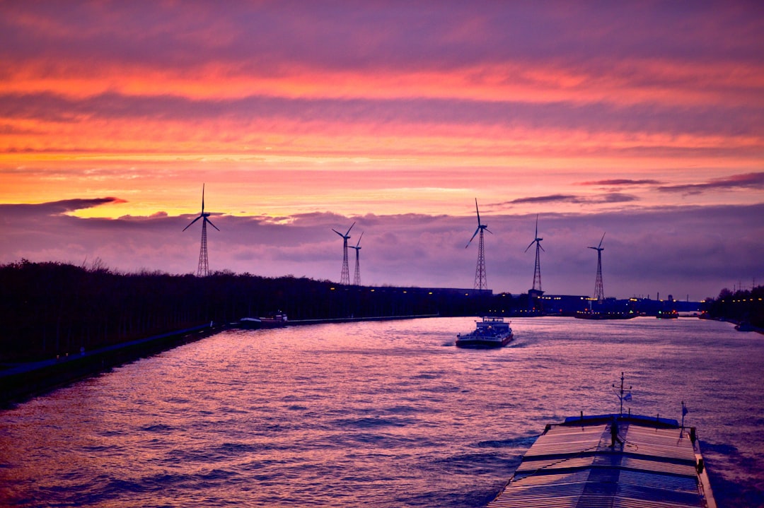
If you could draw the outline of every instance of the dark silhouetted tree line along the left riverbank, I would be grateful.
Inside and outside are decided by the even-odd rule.
[[[508,296],[508,297],[507,297]],[[410,315],[473,316],[511,295],[362,287],[286,276],[215,272],[208,277],[120,273],[21,260],[0,265],[0,362],[90,350],[203,323],[229,323],[276,311],[290,320]]]

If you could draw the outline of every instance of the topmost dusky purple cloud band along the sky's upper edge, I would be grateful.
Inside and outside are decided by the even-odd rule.
[[[55,62],[75,53],[92,63],[117,58],[176,68],[233,61],[270,75],[284,63],[417,70],[539,60],[611,70],[623,59],[758,65],[762,11],[756,2],[233,2],[225,9],[206,2],[11,2],[0,18],[0,54]],[[658,75],[631,79],[662,84]]]

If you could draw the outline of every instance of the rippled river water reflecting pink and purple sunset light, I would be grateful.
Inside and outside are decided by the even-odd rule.
[[[719,506],[764,506],[764,337],[701,320],[469,318],[229,331],[0,413],[0,505],[484,506],[545,423],[698,427]]]

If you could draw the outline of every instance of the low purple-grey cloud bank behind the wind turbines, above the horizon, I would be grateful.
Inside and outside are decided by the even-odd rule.
[[[92,200],[97,206],[102,201]],[[87,264],[101,259],[121,271],[196,272],[199,224],[182,232],[192,215],[79,218],[62,214],[76,203],[3,205],[2,235],[10,240],[0,261],[22,257]],[[542,214],[542,288],[552,294],[591,294],[596,256],[587,249],[607,232],[603,271],[607,296],[634,295],[701,299],[721,288],[762,280],[764,205],[754,207],[670,207],[632,213]],[[481,214],[486,235],[487,277],[494,291],[517,294],[533,281],[535,217]],[[220,231],[208,230],[210,268],[257,275],[292,274],[338,281],[342,239],[332,229],[351,223],[351,244],[361,232],[361,280],[366,285],[471,288],[477,239],[465,249],[474,217],[403,214],[342,217],[214,215]],[[354,252],[351,251],[351,273]]]

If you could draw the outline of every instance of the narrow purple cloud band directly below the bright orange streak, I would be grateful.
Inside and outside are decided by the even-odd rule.
[[[89,120],[219,121],[250,125],[260,121],[391,125],[484,125],[589,132],[758,133],[761,116],[749,108],[724,105],[688,110],[668,105],[546,104],[520,101],[468,101],[440,98],[332,99],[251,96],[192,99],[178,95],[122,95],[108,92],[85,98],[53,93],[0,94],[0,116],[60,123]],[[735,117],[720,125],[720,117]],[[615,181],[619,182],[619,181]]]

